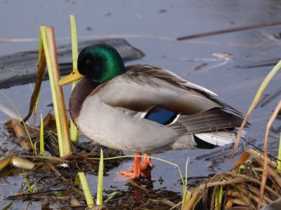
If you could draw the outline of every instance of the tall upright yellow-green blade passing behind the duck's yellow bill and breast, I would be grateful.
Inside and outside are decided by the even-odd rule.
[[[77,69],[78,59],[78,45],[77,45],[77,30],[74,15],[70,15],[70,26],[71,26],[71,43],[72,43],[72,67]],[[72,83],[72,90],[78,84],[78,80]],[[71,141],[79,141],[79,131],[70,119],[70,139]]]

